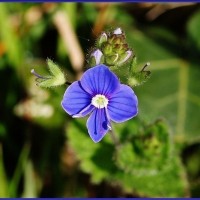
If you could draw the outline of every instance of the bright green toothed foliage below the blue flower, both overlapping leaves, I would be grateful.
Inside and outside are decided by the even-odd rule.
[[[138,132],[133,133],[131,127],[135,122],[130,120],[120,128],[126,136],[117,152],[109,134],[102,143],[94,144],[88,137],[84,123],[85,120],[73,120],[67,136],[81,161],[81,169],[91,174],[92,182],[112,181],[120,184],[125,192],[141,196],[186,195],[185,172],[163,121],[143,130],[137,127]]]

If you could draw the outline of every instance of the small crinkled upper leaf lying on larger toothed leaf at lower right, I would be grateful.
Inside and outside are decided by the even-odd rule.
[[[135,176],[160,173],[171,161],[172,146],[166,124],[158,120],[121,145],[117,166]]]

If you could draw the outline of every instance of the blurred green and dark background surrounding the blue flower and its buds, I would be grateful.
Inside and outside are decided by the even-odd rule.
[[[30,73],[80,77],[95,38],[121,27],[139,68],[139,115],[94,144],[61,108],[65,87]],[[0,197],[199,197],[200,4],[0,3]]]

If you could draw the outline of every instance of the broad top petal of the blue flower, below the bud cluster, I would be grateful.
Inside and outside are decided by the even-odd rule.
[[[88,69],[80,81],[84,90],[93,96],[103,94],[109,97],[120,86],[117,76],[105,65]]]

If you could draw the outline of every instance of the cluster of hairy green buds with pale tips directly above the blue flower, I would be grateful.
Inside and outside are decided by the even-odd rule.
[[[88,67],[105,64],[117,74],[120,81],[131,87],[141,85],[150,78],[150,71],[145,68],[137,71],[136,56],[126,41],[121,28],[102,32],[96,39],[96,47],[88,55]]]

